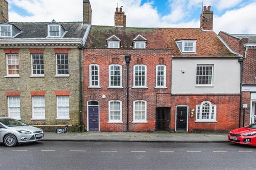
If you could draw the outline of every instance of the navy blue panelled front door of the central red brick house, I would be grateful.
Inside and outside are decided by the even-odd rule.
[[[89,106],[89,131],[99,131],[99,106]]]

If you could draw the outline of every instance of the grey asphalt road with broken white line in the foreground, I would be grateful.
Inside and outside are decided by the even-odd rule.
[[[0,145],[0,169],[256,169],[256,148],[229,143],[40,141]]]

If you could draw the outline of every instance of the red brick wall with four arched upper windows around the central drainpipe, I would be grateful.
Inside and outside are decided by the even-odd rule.
[[[129,125],[130,131],[155,131],[156,107],[171,107],[171,57],[172,51],[168,49],[85,49],[84,50],[84,124],[87,126],[87,101],[100,101],[100,131],[124,132],[126,131],[126,63],[125,55],[131,55],[129,72]],[[115,58],[115,64],[123,66],[123,89],[108,89],[108,66]],[[148,89],[133,89],[133,65],[138,64],[138,58],[142,58],[142,64],[147,65]],[[159,58],[163,58],[166,65],[167,89],[155,89],[156,65]],[[89,65],[100,65],[100,89],[89,87]],[[106,99],[102,99],[106,95]],[[123,123],[108,123],[108,101],[121,100],[123,103]],[[147,101],[148,123],[132,123],[133,101]]]

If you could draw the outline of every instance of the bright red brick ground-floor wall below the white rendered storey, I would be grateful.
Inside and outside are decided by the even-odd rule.
[[[189,106],[189,132],[228,132],[238,128],[239,95],[184,95],[172,97],[171,129],[175,129],[175,106]],[[217,105],[217,123],[196,123],[196,105],[203,101],[211,101]],[[195,109],[195,118],[190,118],[191,109]]]

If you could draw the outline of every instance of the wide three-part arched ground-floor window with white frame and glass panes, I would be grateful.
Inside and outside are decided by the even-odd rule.
[[[212,105],[210,101],[203,101],[201,105],[197,105],[196,121],[198,122],[216,121],[216,105]]]

